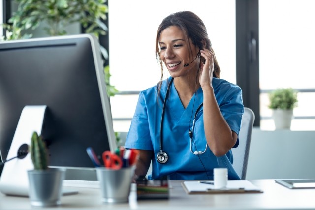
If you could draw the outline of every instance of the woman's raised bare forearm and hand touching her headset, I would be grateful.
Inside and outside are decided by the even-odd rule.
[[[208,145],[216,156],[224,155],[237,141],[237,134],[233,132],[221,114],[212,86],[214,70],[214,54],[210,50],[200,50],[205,58],[201,63],[200,86],[203,91],[204,130]]]

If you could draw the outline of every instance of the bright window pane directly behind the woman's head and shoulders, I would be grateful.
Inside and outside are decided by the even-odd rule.
[[[155,38],[162,19],[189,10],[205,23],[213,44],[221,78],[236,83],[235,0],[111,0],[109,7],[109,55],[111,84],[119,91],[140,91],[158,83]],[[128,92],[125,92],[128,93]],[[114,130],[127,132],[138,93],[111,98]]]

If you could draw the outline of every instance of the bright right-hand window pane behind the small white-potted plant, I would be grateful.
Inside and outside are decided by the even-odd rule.
[[[293,88],[299,102],[291,130],[315,130],[314,8],[314,0],[259,1],[261,129],[274,129],[267,90]]]

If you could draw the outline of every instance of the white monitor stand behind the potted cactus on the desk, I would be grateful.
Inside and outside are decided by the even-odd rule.
[[[28,170],[32,170],[31,155],[27,154],[23,159],[17,156],[22,145],[30,145],[32,133],[36,131],[39,135],[44,124],[46,105],[25,106],[22,110],[18,125],[16,127],[7,160],[0,177],[0,191],[5,195],[29,195]],[[69,191],[65,192],[70,194]],[[72,192],[73,194],[74,192]]]

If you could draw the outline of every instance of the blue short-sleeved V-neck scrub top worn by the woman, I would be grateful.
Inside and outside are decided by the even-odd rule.
[[[199,88],[191,98],[185,109],[174,83],[170,86],[162,125],[163,151],[168,154],[168,161],[158,163],[157,155],[160,152],[160,121],[163,101],[171,78],[164,80],[158,97],[157,87],[143,90],[130,129],[126,138],[125,148],[139,150],[153,150],[152,179],[169,176],[170,180],[213,180],[213,169],[224,167],[228,169],[228,179],[240,179],[232,167],[233,155],[231,150],[220,157],[216,157],[207,146],[205,153],[195,155],[190,152],[189,129],[198,106],[203,102],[203,92]],[[226,80],[213,78],[213,88],[221,113],[232,131],[239,134],[244,105],[242,90]],[[158,101],[157,101],[158,97]],[[192,130],[195,146],[192,151],[204,151],[206,137],[203,126],[203,107],[197,113],[194,129]],[[239,140],[234,147],[238,146]]]

